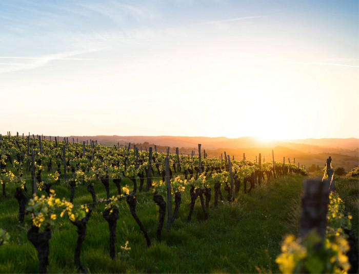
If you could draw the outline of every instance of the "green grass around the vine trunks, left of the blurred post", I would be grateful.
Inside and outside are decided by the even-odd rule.
[[[171,230],[162,232],[162,242],[155,241],[158,208],[152,193],[138,193],[137,215],[152,240],[145,238],[132,218],[126,201],[122,202],[116,227],[115,260],[109,257],[108,224],[102,217],[104,204],[98,204],[88,222],[82,248],[82,263],[91,272],[278,272],[274,262],[280,253],[284,235],[298,233],[298,214],[303,177],[288,175],[268,187],[256,188],[249,195],[242,192],[234,203],[224,202],[217,208],[212,199],[209,218],[204,220],[200,202],[196,202],[192,222],[187,223],[189,193],[183,193],[178,218]],[[131,181],[126,181],[131,186]],[[101,182],[94,184],[96,195],[106,197]],[[69,198],[69,187],[54,186],[57,197]],[[115,186],[110,182],[111,195]],[[223,191],[223,190],[222,190]],[[18,205],[14,189],[7,186],[7,197],[0,197],[0,227],[11,235],[8,245],[0,247],[0,272],[37,272],[36,250],[27,240],[29,216],[18,225]],[[223,191],[223,194],[224,191]],[[226,196],[226,195],[224,195]],[[85,186],[75,190],[74,204],[91,202]],[[50,240],[48,272],[76,272],[73,262],[77,238],[76,227],[67,218],[58,219]],[[126,241],[131,247],[129,258],[121,254]]]

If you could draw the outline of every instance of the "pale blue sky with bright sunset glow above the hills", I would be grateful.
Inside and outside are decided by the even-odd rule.
[[[359,138],[357,0],[0,1],[0,133]]]

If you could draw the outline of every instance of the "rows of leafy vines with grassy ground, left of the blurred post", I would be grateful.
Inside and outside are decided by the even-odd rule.
[[[304,169],[145,150],[1,136],[0,271],[278,271]]]

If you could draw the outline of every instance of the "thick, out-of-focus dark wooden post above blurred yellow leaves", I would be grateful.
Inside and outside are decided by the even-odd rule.
[[[302,211],[300,236],[315,229],[322,239],[327,227],[327,212],[329,202],[329,181],[307,179],[303,181]]]

